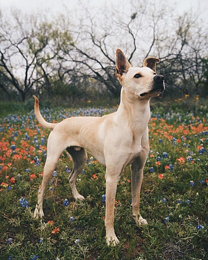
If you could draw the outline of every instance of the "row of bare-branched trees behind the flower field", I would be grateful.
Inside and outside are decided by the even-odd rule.
[[[0,100],[118,98],[117,47],[133,66],[160,58],[170,99],[208,94],[207,26],[200,13],[179,16],[163,1],[102,10],[83,5],[57,16],[2,12],[0,41]]]

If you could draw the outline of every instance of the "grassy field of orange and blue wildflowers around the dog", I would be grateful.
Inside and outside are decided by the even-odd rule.
[[[102,116],[112,109],[44,109],[48,122],[72,116]],[[105,168],[88,156],[75,201],[64,152],[44,199],[44,220],[33,220],[43,176],[49,130],[33,111],[0,119],[0,259],[208,259],[208,114],[153,111],[150,153],[144,169],[141,214],[131,212],[130,168],[123,172],[115,201],[120,244],[105,243]]]

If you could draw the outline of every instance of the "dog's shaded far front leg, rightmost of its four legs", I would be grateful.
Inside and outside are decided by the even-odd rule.
[[[134,160],[131,164],[131,189],[132,189],[132,210],[133,210],[133,218],[136,224],[141,226],[147,225],[145,219],[143,219],[140,215],[139,211],[139,201],[140,201],[140,190],[143,179],[143,169],[144,164],[146,162],[146,158],[148,156],[148,149],[144,149],[140,152],[138,158]],[[139,216],[139,218],[138,218]]]

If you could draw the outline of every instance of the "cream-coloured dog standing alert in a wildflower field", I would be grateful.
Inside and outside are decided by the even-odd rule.
[[[155,71],[160,60],[148,57],[143,67],[132,67],[121,49],[116,50],[116,76],[122,85],[121,101],[117,112],[102,117],[73,117],[60,123],[46,122],[39,111],[35,98],[35,116],[46,128],[53,129],[47,142],[47,158],[42,184],[38,190],[34,218],[44,217],[43,196],[59,157],[67,150],[73,159],[73,170],[69,176],[75,199],[84,197],[76,189],[75,182],[87,160],[87,152],[106,166],[106,242],[119,243],[114,231],[114,206],[116,189],[123,169],[131,165],[132,209],[137,225],[147,225],[139,211],[140,189],[143,169],[149,154],[148,121],[149,100],[159,96],[165,89],[164,77]]]

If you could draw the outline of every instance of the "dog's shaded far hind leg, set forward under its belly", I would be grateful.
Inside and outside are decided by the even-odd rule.
[[[79,194],[76,188],[76,179],[78,174],[80,174],[83,170],[84,165],[86,164],[87,160],[87,152],[84,148],[80,147],[67,147],[67,151],[70,153],[72,160],[73,160],[73,169],[69,176],[69,182],[72,189],[72,193],[75,199],[83,200],[84,197]]]

